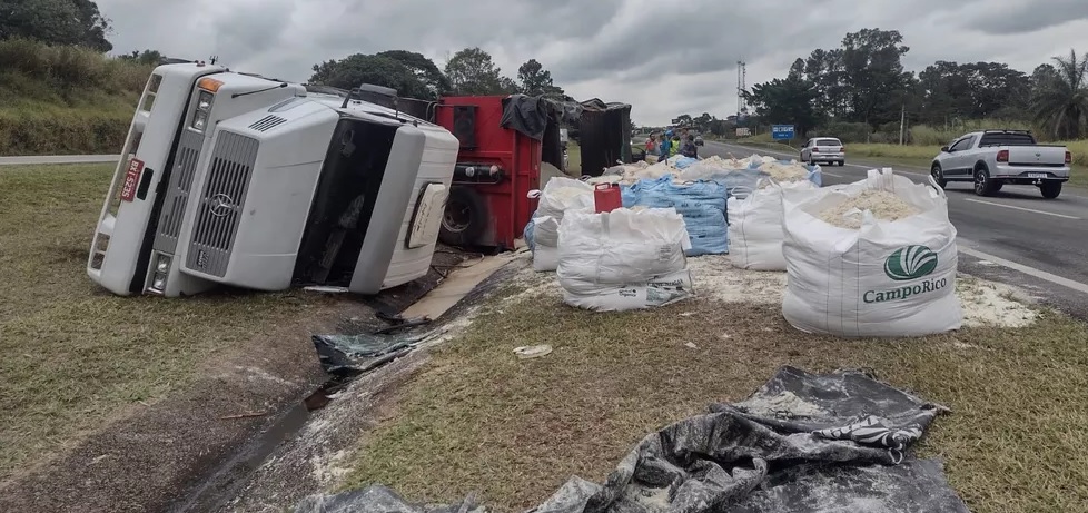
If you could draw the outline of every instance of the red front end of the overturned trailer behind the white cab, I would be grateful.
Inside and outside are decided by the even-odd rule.
[[[535,209],[541,141],[500,125],[503,96],[445,97],[435,122],[461,140],[442,239],[456,246],[513,249]]]

